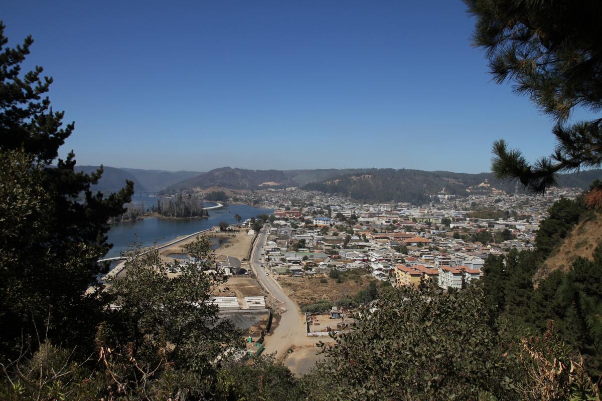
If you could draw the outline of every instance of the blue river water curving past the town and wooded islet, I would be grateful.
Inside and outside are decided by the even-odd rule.
[[[154,197],[132,198],[132,203],[136,203],[136,201],[148,205],[157,204],[157,198]],[[215,204],[206,202],[205,206],[215,206]],[[234,215],[237,214],[241,216],[242,222],[256,215],[263,213],[270,215],[273,212],[274,209],[261,209],[246,204],[225,204],[222,209],[209,210],[209,218],[206,219],[160,219],[151,217],[111,224],[111,230],[108,232],[108,242],[113,243],[113,248],[105,257],[119,256],[122,251],[126,251],[134,245],[134,242],[137,242],[140,246],[151,246],[155,243],[169,242],[182,235],[206,230],[219,225],[220,221],[236,224]]]

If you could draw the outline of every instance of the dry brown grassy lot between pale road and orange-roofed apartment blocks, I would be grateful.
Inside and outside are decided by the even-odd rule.
[[[288,277],[279,276],[278,283],[281,284],[288,296],[298,305],[311,304],[312,302],[327,299],[336,301],[345,298],[347,295],[353,296],[358,290],[363,289],[373,281],[374,278],[364,271],[346,272],[342,283],[337,283],[334,278],[326,274],[318,274],[314,277]],[[326,283],[320,283],[320,280],[326,280]]]

